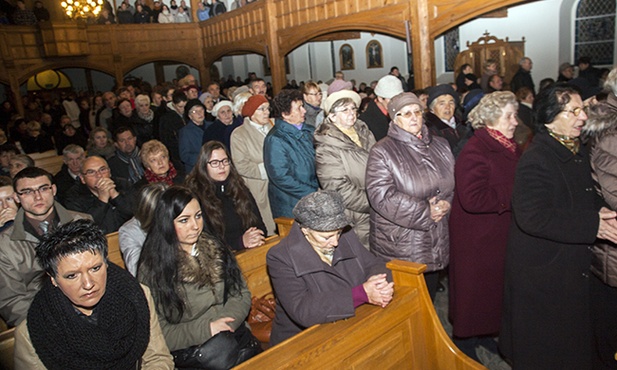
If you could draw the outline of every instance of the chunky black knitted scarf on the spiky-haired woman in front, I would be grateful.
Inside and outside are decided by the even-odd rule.
[[[36,354],[53,369],[135,369],[150,341],[150,311],[139,283],[109,264],[96,324],[79,317],[73,304],[46,278],[28,311]]]

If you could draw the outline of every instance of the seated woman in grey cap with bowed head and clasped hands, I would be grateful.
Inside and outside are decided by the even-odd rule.
[[[385,261],[348,230],[340,194],[311,193],[293,214],[289,235],[268,251],[276,295],[271,345],[312,325],[353,317],[364,303],[385,307],[394,291]]]

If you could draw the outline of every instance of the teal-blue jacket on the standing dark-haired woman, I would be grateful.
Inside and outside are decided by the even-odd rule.
[[[300,198],[319,188],[315,174],[315,128],[277,119],[264,141],[264,165],[268,173],[268,197],[272,216],[293,217]]]

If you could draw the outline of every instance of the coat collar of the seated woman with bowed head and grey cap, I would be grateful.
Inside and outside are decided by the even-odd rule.
[[[296,276],[303,276],[318,271],[332,271],[331,268],[319,258],[317,252],[313,250],[297,224],[293,224],[287,239],[289,257]],[[351,249],[346,233],[343,233],[339,239],[338,247],[334,251],[332,267],[336,266],[336,264],[341,261],[353,258],[358,258],[358,256]]]

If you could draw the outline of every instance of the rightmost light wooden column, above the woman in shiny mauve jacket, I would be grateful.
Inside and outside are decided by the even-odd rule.
[[[411,2],[411,40],[416,88],[435,84],[435,45],[429,32],[429,0]]]

